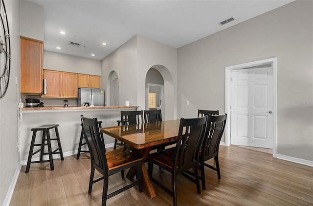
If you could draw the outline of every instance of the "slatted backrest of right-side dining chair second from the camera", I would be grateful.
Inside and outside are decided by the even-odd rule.
[[[210,156],[214,157],[218,153],[225,129],[226,118],[227,114],[208,115],[207,128],[201,148],[202,159],[211,158]]]

